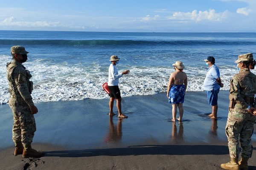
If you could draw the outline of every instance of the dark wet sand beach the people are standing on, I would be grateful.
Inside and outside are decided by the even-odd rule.
[[[224,130],[228,91],[219,93],[217,121],[207,116],[205,91],[186,92],[183,122],[175,124],[165,93],[123,97],[128,119],[108,116],[108,102],[35,103],[32,147],[45,153],[40,159],[13,156],[12,112],[0,105],[0,170],[221,170],[230,161]],[[256,146],[255,132],[252,140]],[[249,170],[256,170],[255,150]]]

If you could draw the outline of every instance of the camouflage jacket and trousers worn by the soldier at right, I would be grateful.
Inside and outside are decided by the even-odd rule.
[[[244,54],[245,55],[245,54]],[[252,55],[251,55],[252,56]],[[239,62],[239,59],[237,60]],[[236,62],[236,63],[237,63]],[[239,157],[239,137],[241,156],[250,158],[253,151],[251,136],[256,116],[247,111],[255,107],[256,75],[249,68],[242,68],[230,80],[230,106],[226,125],[226,135],[231,158]]]

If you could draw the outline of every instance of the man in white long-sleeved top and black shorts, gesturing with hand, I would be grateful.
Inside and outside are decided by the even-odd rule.
[[[116,55],[111,56],[109,61],[111,61],[111,64],[108,68],[108,88],[110,91],[109,115],[115,115],[115,113],[113,112],[113,105],[114,105],[114,100],[116,99],[116,108],[118,111],[118,117],[127,118],[128,116],[125,116],[122,113],[122,105],[121,105],[122,98],[121,98],[120,90],[118,87],[118,83],[119,83],[119,78],[122,77],[124,74],[129,74],[130,71],[125,70],[120,74],[118,73],[116,64],[118,64],[119,58]]]

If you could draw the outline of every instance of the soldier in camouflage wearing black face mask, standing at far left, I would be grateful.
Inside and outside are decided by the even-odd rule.
[[[22,154],[23,158],[39,158],[43,153],[31,148],[36,130],[33,114],[38,112],[31,97],[33,83],[29,79],[32,76],[22,65],[26,62],[28,53],[22,46],[12,46],[13,60],[6,65],[10,92],[9,106],[12,109],[14,120],[12,140],[15,143],[15,156]]]

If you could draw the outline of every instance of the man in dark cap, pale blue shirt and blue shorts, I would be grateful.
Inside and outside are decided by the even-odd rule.
[[[220,88],[223,87],[221,83],[220,71],[215,65],[215,58],[212,56],[204,60],[206,65],[209,66],[208,72],[204,79],[204,90],[206,90],[209,105],[212,105],[212,113],[209,114],[211,119],[217,120],[218,112],[218,93]]]

